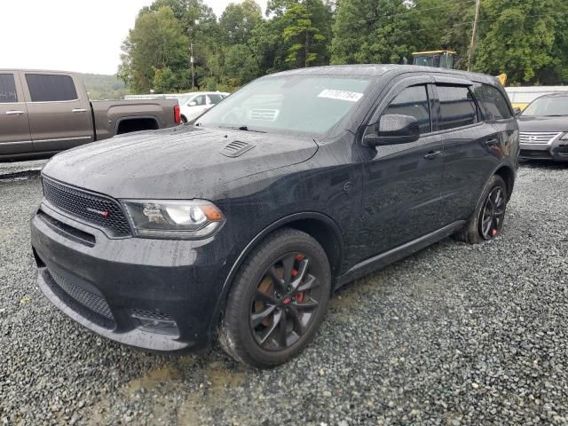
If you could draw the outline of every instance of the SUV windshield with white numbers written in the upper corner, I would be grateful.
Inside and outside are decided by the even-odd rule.
[[[321,135],[354,110],[368,85],[360,77],[264,78],[201,115],[196,125]]]

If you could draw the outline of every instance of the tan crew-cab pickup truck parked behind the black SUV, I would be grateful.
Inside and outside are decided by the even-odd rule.
[[[89,99],[74,73],[0,69],[0,158],[50,154],[181,122],[176,99]]]

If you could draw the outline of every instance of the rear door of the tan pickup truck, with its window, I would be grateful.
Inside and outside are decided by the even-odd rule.
[[[35,152],[60,151],[94,140],[91,103],[74,75],[22,72]],[[84,94],[83,94],[84,93]],[[80,99],[79,94],[83,94]]]

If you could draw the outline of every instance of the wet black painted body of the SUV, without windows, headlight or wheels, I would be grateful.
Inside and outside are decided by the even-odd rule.
[[[512,190],[514,119],[454,130],[434,126],[401,146],[360,143],[362,126],[396,91],[436,79],[494,85],[491,77],[401,66],[287,75],[360,75],[372,84],[352,114],[319,137],[185,126],[54,157],[43,170],[46,197],[31,223],[37,283],[51,302],[121,343],[158,351],[199,348],[216,335],[243,260],[280,226],[321,243],[337,288],[459,230],[493,174]],[[436,122],[436,92],[429,90]],[[114,229],[104,218],[69,208],[76,200],[108,202],[125,216],[121,200],[157,198],[212,201],[225,224],[200,240],[136,238],[128,225],[121,233],[120,224]]]

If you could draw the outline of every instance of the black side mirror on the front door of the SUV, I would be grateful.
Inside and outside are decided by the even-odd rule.
[[[363,145],[385,146],[408,144],[420,138],[420,125],[416,117],[401,114],[383,115],[375,126],[375,133],[365,135]]]

